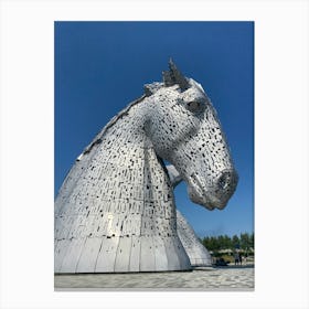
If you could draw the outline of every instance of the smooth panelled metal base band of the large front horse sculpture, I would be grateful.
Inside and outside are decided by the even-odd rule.
[[[177,235],[86,237],[56,243],[56,274],[191,270]]]

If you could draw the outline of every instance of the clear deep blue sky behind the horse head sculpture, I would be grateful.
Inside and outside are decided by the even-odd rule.
[[[106,122],[160,82],[172,56],[217,110],[239,182],[223,211],[178,209],[199,236],[254,232],[254,23],[55,22],[55,194],[76,157]]]

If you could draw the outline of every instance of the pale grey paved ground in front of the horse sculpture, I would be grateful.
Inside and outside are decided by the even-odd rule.
[[[254,266],[193,271],[55,275],[55,290],[254,290]]]

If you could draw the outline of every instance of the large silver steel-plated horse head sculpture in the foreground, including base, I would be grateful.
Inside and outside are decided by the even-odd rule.
[[[188,270],[163,160],[190,199],[223,209],[237,184],[202,86],[170,61],[163,83],[115,116],[77,158],[55,201],[55,273]]]

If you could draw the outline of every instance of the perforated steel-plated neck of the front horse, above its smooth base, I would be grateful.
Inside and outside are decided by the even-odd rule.
[[[78,226],[85,226],[83,235],[97,237],[177,234],[169,178],[138,111],[118,119],[72,169],[78,180],[62,194],[58,213],[79,217],[72,219],[70,237],[78,237]]]

